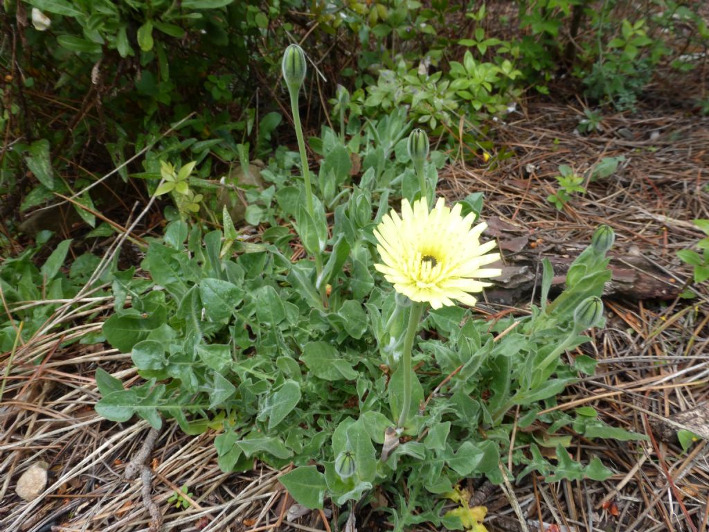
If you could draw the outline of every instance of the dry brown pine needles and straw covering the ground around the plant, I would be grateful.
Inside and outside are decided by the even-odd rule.
[[[608,223],[618,235],[619,252],[640,253],[666,274],[665,282],[683,284],[689,272],[675,252],[701,237],[689,221],[709,218],[708,119],[681,110],[641,110],[632,118],[606,116],[603,133],[581,137],[574,134],[580,116],[572,106],[532,101],[496,130],[499,148],[514,156],[490,167],[449,167],[442,176],[443,192],[451,198],[486,192],[485,216],[517,225],[540,255],[559,243],[580,248],[598,223]],[[625,130],[621,136],[622,128],[631,136]],[[558,165],[583,171],[611,155],[626,157],[616,176],[592,183],[588,194],[575,197],[563,212],[546,201]],[[67,345],[99,330],[110,308],[110,301],[90,296],[81,294],[81,302],[55,317],[59,328],[48,326],[15,353],[1,355],[6,379],[0,410],[0,530],[128,532],[148,527],[140,480],[123,480],[125,464],[148,427],[109,423],[93,410],[99,397],[96,367],[132,382],[138,375],[130,356],[101,345]],[[606,301],[608,323],[596,331],[592,348],[598,374],[570,387],[556,408],[593,406],[611,425],[652,434],[651,440],[574,438],[569,450],[576,458],[598,455],[616,475],[606,482],[557,484],[532,475],[512,486],[509,497],[493,490],[483,501],[490,509],[490,530],[533,531],[540,522],[549,531],[705,529],[705,441],[682,453],[657,421],[707,399],[708,302],[706,287],[691,301]],[[709,425],[709,419],[703,422]],[[152,499],[164,516],[163,530],[277,528],[289,506],[278,472],[255,462],[247,474],[223,474],[216,464],[214,436],[213,431],[184,436],[174,424],[160,433],[149,462],[155,472]],[[50,464],[50,482],[38,499],[25,503],[14,487],[38,460]],[[184,484],[194,496],[187,509],[179,510],[167,499]],[[327,526],[313,513],[295,523],[284,521],[281,528]]]

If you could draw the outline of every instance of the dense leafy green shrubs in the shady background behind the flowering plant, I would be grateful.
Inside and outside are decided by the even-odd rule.
[[[311,124],[327,118],[323,103],[340,83],[349,118],[405,105],[445,142],[480,147],[488,118],[513,110],[527,88],[550,94],[559,76],[579,79],[589,105],[623,109],[658,68],[693,70],[709,37],[701,4],[8,1],[0,129],[12,149],[0,163],[1,214],[80,192],[136,153],[118,174],[149,187],[160,159],[196,160],[195,177],[215,183],[240,159],[238,145],[242,162],[267,157],[287,121],[279,54],[303,37],[318,70],[303,102]],[[469,127],[458,138],[461,121]],[[143,182],[133,189],[140,196]],[[94,208],[96,192],[76,201]]]

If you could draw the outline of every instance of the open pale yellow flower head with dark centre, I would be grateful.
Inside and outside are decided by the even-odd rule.
[[[481,292],[489,282],[478,279],[501,275],[498,268],[482,268],[500,258],[488,253],[496,243],[481,245],[486,228],[479,223],[471,228],[474,214],[461,216],[461,205],[453,209],[439,198],[432,211],[426,199],[401,202],[401,218],[396,211],[384,215],[374,235],[381,261],[376,270],[394,285],[396,292],[412,301],[428,301],[434,309],[454,304],[454,300],[474,306],[470,292]]]

